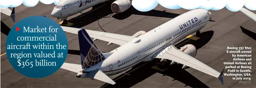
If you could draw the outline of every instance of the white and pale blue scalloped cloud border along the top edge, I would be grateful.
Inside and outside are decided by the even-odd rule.
[[[44,4],[54,3],[56,5],[60,0],[2,0],[0,8],[17,7],[21,4],[33,7],[39,1]],[[255,3],[256,0],[133,0],[132,5],[139,11],[150,11],[158,4],[169,9],[193,10],[203,8],[206,10],[220,10],[226,7],[230,11],[239,11],[243,6],[249,10],[256,10]]]

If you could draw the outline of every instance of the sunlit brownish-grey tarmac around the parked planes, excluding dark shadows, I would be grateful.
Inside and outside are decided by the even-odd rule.
[[[106,4],[106,3],[104,3]],[[110,3],[111,4],[111,3]],[[72,25],[71,27],[84,28],[90,30],[103,31],[123,35],[133,35],[134,33],[144,30],[149,31],[179,14],[183,14],[188,10],[178,9],[169,10],[162,6],[157,6],[149,12],[139,12],[134,8],[130,8],[125,13],[112,14],[110,4],[102,6],[91,13],[78,13],[71,18],[68,18]],[[29,8],[24,5],[15,8],[16,22],[28,16],[47,16],[56,22],[60,22],[50,16],[54,5],[45,5],[38,3],[35,7]],[[44,8],[44,9],[42,9]],[[256,13],[256,11],[253,11]],[[250,46],[253,47],[253,53],[256,52],[256,22],[248,18],[241,12],[231,12],[226,8],[218,11],[211,11],[212,20],[201,32],[197,35],[201,39],[197,41],[184,39],[176,46],[179,48],[185,44],[193,44],[198,49],[196,59],[206,63],[213,69],[221,72],[224,69],[224,61],[232,61],[231,54],[227,54],[227,46]],[[98,17],[111,15],[109,18],[99,19]],[[59,69],[53,75],[45,78],[28,78],[19,74],[6,58],[5,42],[8,34],[8,27],[13,27],[14,24],[11,18],[1,13],[1,87],[256,87],[256,81],[252,84],[240,84],[238,81],[232,80],[232,77],[224,77],[224,86],[221,85],[218,78],[204,74],[197,70],[188,68],[181,69],[181,64],[167,66],[165,71],[152,69],[151,67],[159,60],[154,59],[151,62],[144,62],[133,67],[126,72],[127,74],[114,75],[111,78],[115,80],[116,85],[107,85],[98,80],[89,78],[76,78],[76,73],[69,72],[64,69]],[[7,27],[2,24],[6,24]],[[243,28],[240,28],[242,26]],[[78,36],[75,34],[66,33],[69,44],[69,53],[65,62],[80,64]],[[107,42],[98,40],[96,45],[102,52],[108,52],[118,47],[118,45],[107,46]],[[253,55],[253,58],[256,56]],[[145,64],[145,65],[143,65]],[[253,65],[255,67],[255,65]],[[139,68],[138,68],[139,67]],[[253,68],[253,77],[256,78],[255,68]],[[224,73],[227,70],[224,70]]]

